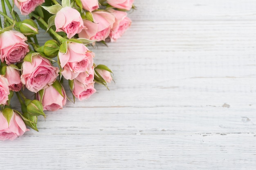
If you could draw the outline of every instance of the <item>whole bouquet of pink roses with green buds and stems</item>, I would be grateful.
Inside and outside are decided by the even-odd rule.
[[[88,46],[120,38],[131,24],[127,11],[135,7],[133,0],[1,2],[0,140],[13,140],[27,127],[38,131],[37,119],[46,117],[45,110],[56,111],[67,100],[89,98],[96,92],[94,83],[108,88],[112,71],[94,63],[97,55]],[[20,20],[19,13],[27,19]],[[38,44],[38,26],[52,37],[43,45]],[[64,81],[68,81],[72,99],[66,95]],[[34,97],[27,98],[24,90]],[[14,94],[20,110],[11,105]]]

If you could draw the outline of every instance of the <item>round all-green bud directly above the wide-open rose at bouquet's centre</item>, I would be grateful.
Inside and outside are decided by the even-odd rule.
[[[49,58],[54,58],[58,55],[60,45],[56,40],[48,40],[43,47],[44,54]]]

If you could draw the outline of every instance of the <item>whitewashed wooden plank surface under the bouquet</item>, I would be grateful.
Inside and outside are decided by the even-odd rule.
[[[135,4],[126,34],[92,49],[116,84],[0,141],[0,169],[255,169],[256,1]]]

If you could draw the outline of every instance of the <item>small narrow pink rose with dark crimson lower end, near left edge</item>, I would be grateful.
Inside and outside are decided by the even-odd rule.
[[[9,83],[9,89],[14,92],[19,92],[23,84],[20,81],[20,71],[12,66],[6,67],[5,78]]]

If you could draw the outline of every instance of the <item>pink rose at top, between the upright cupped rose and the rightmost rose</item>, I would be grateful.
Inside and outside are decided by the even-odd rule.
[[[94,11],[92,12],[94,22],[88,20],[83,20],[83,24],[87,29],[83,29],[81,33],[78,34],[79,38],[87,38],[90,40],[105,40],[115,22],[115,17],[105,11]]]

